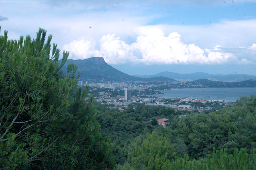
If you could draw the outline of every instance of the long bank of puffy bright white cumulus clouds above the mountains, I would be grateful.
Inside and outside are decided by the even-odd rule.
[[[103,57],[108,64],[254,64],[245,58],[239,60],[234,54],[220,52],[219,46],[202,50],[195,44],[185,44],[181,36],[174,32],[165,36],[159,28],[140,27],[135,30],[139,35],[135,43],[127,44],[115,34],[104,35],[100,39],[100,48],[90,41],[72,41],[63,46],[71,52],[74,59]],[[256,45],[248,47],[256,49]]]

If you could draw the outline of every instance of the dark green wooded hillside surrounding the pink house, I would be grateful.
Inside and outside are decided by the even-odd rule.
[[[101,134],[111,139],[111,150],[119,165],[132,165],[129,153],[134,152],[134,143],[153,133],[173,147],[168,149],[168,154],[175,152],[179,158],[188,154],[188,160],[203,160],[214,150],[225,149],[228,155],[234,155],[235,148],[245,148],[241,151],[248,153],[249,160],[252,160],[252,151],[256,148],[256,95],[241,97],[236,103],[235,107],[209,114],[186,112],[181,118],[179,115],[185,112],[175,112],[169,107],[137,104],[135,108],[129,105],[126,111],[120,112],[97,104],[99,113],[96,119],[101,125]],[[170,126],[151,126],[159,118],[169,119]],[[150,153],[151,150],[147,151]],[[174,156],[168,160],[173,162]]]

